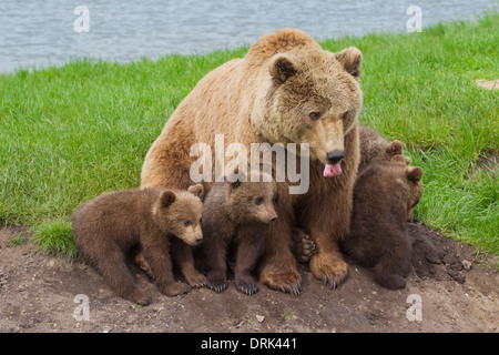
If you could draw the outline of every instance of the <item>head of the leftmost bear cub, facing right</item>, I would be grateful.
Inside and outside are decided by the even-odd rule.
[[[160,227],[189,245],[197,245],[203,241],[201,229],[203,203],[200,199],[203,190],[202,187],[196,189],[201,189],[201,193],[174,193],[166,190],[161,194],[159,203],[153,209]],[[190,187],[190,190],[193,189]]]

